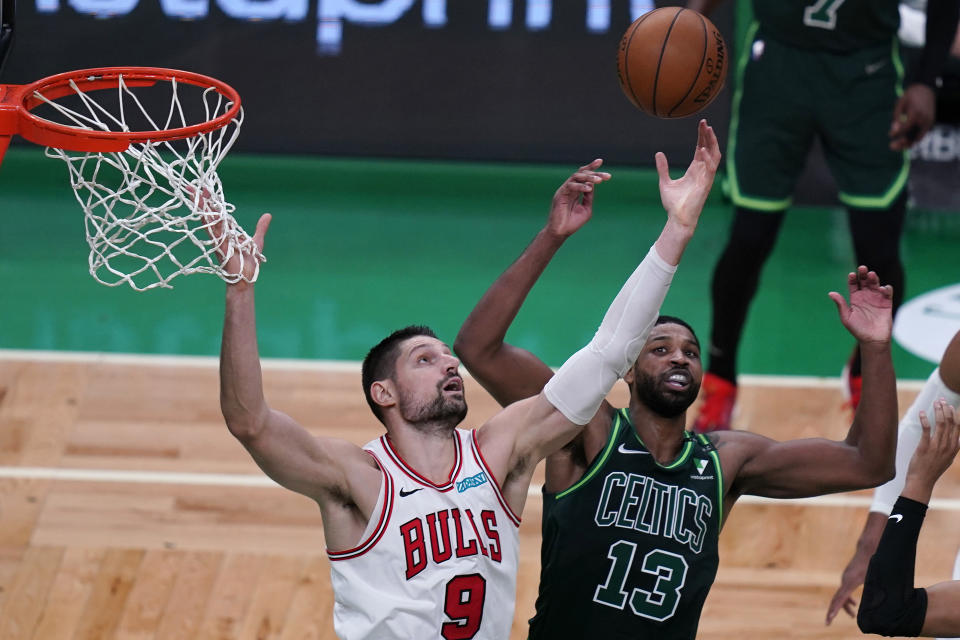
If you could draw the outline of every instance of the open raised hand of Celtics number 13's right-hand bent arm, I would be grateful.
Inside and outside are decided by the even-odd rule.
[[[889,342],[893,330],[893,287],[880,285],[880,278],[861,265],[847,276],[850,302],[836,291],[830,299],[837,305],[840,322],[860,342]]]

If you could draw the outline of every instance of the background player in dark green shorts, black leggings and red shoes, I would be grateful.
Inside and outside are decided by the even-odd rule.
[[[687,0],[709,13],[722,0]],[[957,0],[928,0],[926,44],[905,70],[898,0],[752,0],[737,52],[727,187],[735,216],[713,274],[710,357],[697,431],[729,429],[737,350],[760,272],[814,139],[847,209],[857,264],[904,293],[900,236],[907,148],[934,123],[937,78],[957,25]],[[905,87],[905,88],[904,88]],[[859,401],[860,358],[844,369]]]

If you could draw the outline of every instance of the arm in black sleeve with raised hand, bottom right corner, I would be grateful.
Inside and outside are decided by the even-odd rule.
[[[870,559],[857,624],[864,633],[886,636],[960,634],[960,582],[914,588],[917,537],[937,479],[960,451],[960,425],[945,400],[934,404],[931,433],[925,412],[922,434],[907,470],[906,484]]]

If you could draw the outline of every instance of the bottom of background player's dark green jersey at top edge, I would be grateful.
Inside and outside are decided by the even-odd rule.
[[[898,0],[753,0],[760,38],[833,52],[890,44],[900,27],[898,7]]]

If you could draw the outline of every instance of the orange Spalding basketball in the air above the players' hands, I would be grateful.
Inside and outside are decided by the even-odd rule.
[[[627,28],[617,53],[620,88],[658,118],[691,116],[713,102],[727,72],[727,47],[705,16],[661,7]]]

